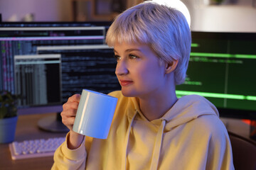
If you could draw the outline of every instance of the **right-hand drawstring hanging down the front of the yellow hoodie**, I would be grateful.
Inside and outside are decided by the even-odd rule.
[[[156,135],[156,142],[154,145],[154,151],[153,151],[153,157],[151,160],[150,170],[157,169],[157,166],[159,163],[159,157],[160,157],[160,151],[161,151],[161,145],[162,145],[162,141],[163,141],[165,125],[166,125],[166,120],[162,120],[161,126]]]

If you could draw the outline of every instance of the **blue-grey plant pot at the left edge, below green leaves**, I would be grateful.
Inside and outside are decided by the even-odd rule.
[[[0,119],[0,143],[14,141],[18,116]]]

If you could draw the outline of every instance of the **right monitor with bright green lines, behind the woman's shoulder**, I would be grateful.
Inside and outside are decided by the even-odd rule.
[[[192,32],[191,57],[178,96],[205,96],[220,116],[256,119],[256,33]]]

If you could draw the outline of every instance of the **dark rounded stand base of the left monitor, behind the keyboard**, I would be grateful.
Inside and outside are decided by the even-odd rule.
[[[60,113],[49,115],[38,121],[38,128],[48,132],[68,132],[69,129],[63,125]]]

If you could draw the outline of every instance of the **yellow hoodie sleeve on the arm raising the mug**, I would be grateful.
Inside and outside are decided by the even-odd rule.
[[[68,133],[69,135],[69,133]],[[54,154],[54,164],[52,170],[65,170],[65,169],[85,169],[85,160],[87,152],[85,150],[85,138],[82,140],[82,144],[78,149],[68,149],[67,138]]]

